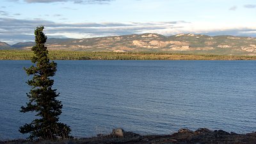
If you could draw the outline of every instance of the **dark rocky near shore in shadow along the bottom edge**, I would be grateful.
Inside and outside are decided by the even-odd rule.
[[[248,134],[237,134],[235,132],[226,132],[223,130],[211,131],[206,128],[200,128],[196,131],[189,129],[180,129],[174,134],[166,135],[140,135],[134,132],[126,132],[123,129],[113,129],[111,134],[103,135],[98,134],[92,138],[79,138],[69,140],[55,140],[55,141],[27,141],[27,140],[12,140],[12,141],[0,141],[0,143],[38,143],[38,144],[97,144],[97,143],[123,143],[123,144],[146,144],[146,143],[162,143],[162,144],[255,144],[256,132]]]

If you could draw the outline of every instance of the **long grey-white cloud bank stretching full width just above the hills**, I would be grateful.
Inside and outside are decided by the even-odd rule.
[[[256,36],[255,24],[252,26],[230,26],[227,24],[192,23],[183,20],[170,22],[84,22],[56,23],[44,19],[10,19],[0,17],[0,41],[15,44],[34,40],[37,26],[45,26],[46,35],[51,38],[90,38],[99,36],[131,35],[141,33],[159,33],[176,35],[195,33],[205,35]],[[254,27],[253,27],[254,26]]]

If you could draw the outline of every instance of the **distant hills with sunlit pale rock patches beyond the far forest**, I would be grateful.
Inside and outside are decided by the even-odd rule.
[[[33,42],[18,43],[12,46],[6,43],[0,44],[2,44],[0,45],[0,49],[30,49],[34,45]],[[50,50],[69,51],[152,51],[193,54],[256,55],[256,38],[228,35],[193,35],[190,33],[173,36],[145,33],[142,35],[83,39],[49,38],[46,46]]]

